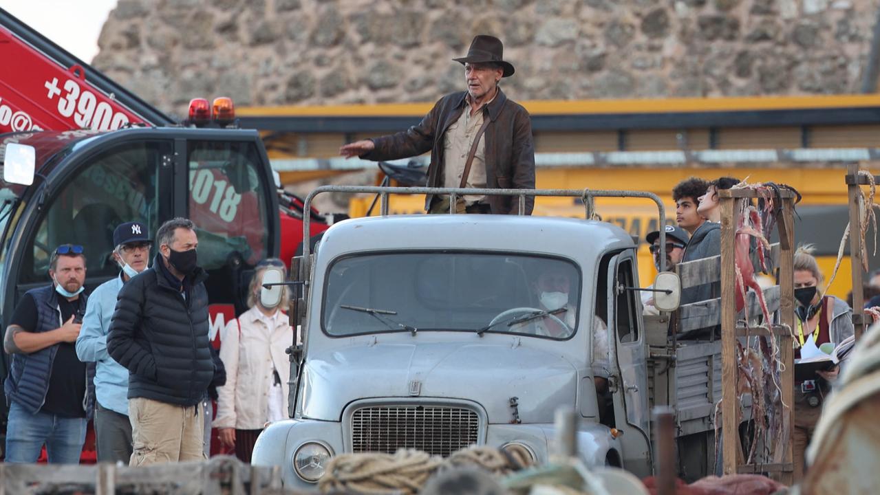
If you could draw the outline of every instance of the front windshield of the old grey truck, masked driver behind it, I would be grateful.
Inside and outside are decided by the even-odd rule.
[[[565,339],[577,328],[581,276],[561,258],[394,252],[341,258],[326,276],[324,331],[473,331]],[[382,309],[388,320],[370,311]],[[391,313],[392,312],[392,313]]]

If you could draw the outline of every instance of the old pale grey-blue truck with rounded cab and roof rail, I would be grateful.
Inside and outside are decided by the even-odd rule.
[[[284,483],[304,488],[349,452],[449,455],[478,444],[546,462],[554,411],[565,406],[582,419],[583,462],[642,477],[654,466],[651,407],[669,404],[679,472],[712,472],[720,344],[667,339],[669,313],[646,326],[637,240],[573,218],[387,215],[388,193],[427,191],[326,186],[306,200],[378,193],[383,215],[335,224],[313,255],[305,246],[293,276],[303,289],[293,311],[301,317],[292,318],[302,346],[290,349],[291,419],[260,435],[253,464],[281,465]],[[583,196],[588,217],[593,197],[642,197],[665,222],[651,193],[485,192],[518,195],[521,205],[529,195]],[[550,292],[564,301],[542,294],[546,276],[563,280]],[[658,307],[678,308],[676,274],[662,273],[654,287]],[[610,360],[595,355],[596,339],[608,341]]]

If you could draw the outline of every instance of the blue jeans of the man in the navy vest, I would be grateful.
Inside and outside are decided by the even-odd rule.
[[[85,441],[85,418],[31,414],[12,402],[6,426],[6,462],[37,462],[46,445],[49,463],[78,464]]]

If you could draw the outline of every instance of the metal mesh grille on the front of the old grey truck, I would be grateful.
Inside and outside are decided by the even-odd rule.
[[[369,406],[351,415],[353,452],[415,448],[450,455],[477,443],[480,419],[463,407],[436,405]]]

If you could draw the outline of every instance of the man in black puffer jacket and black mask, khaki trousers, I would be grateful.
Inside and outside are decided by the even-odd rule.
[[[129,373],[132,466],[205,458],[202,397],[215,371],[195,226],[169,220],[156,242],[153,266],[122,287],[107,337],[107,351]]]

